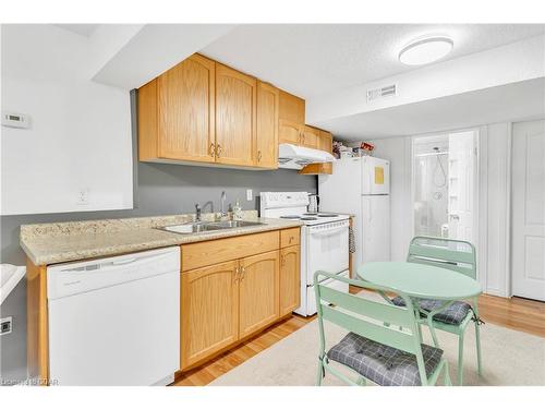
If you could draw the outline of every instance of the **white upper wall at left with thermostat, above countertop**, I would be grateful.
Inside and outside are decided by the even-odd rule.
[[[2,110],[32,117],[1,128],[1,214],[132,208],[130,96],[87,79],[88,38],[36,24],[1,39]]]

